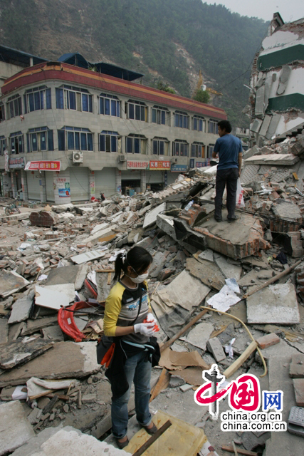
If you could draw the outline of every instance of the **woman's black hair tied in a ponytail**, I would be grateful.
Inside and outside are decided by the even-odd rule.
[[[141,274],[152,263],[152,255],[143,247],[135,246],[129,252],[123,261],[123,254],[118,254],[115,260],[115,276],[113,281],[120,279],[123,272],[127,272],[127,266],[131,266],[137,274]]]

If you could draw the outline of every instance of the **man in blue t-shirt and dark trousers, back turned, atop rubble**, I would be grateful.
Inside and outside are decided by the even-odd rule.
[[[217,124],[219,139],[216,140],[212,157],[219,154],[219,165],[216,171],[216,196],[214,199],[214,219],[221,222],[221,206],[226,186],[227,198],[226,207],[228,211],[228,222],[234,222],[237,217],[234,214],[236,209],[236,185],[241,175],[242,145],[241,140],[231,135],[231,124],[228,120],[220,120]]]

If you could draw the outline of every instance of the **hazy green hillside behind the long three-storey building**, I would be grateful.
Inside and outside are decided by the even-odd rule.
[[[45,58],[79,51],[188,97],[201,69],[207,86],[223,93],[214,104],[234,125],[248,124],[243,83],[267,30],[260,19],[201,0],[1,0],[0,13],[1,43]]]

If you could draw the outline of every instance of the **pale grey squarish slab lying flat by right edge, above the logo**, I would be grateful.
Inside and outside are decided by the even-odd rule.
[[[248,323],[300,323],[298,300],[292,283],[269,285],[246,301]]]

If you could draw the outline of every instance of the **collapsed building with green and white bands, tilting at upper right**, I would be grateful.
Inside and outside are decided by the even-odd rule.
[[[251,144],[300,133],[304,126],[304,19],[273,15],[251,70]]]

